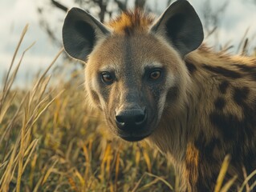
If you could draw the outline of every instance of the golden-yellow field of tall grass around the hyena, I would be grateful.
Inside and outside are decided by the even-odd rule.
[[[23,51],[22,37],[17,51]],[[173,166],[162,154],[144,142],[112,138],[104,119],[84,102],[82,70],[63,80],[47,69],[30,89],[11,89],[22,62],[15,52],[0,92],[0,191],[178,189]],[[221,190],[228,162],[216,191],[232,184]]]

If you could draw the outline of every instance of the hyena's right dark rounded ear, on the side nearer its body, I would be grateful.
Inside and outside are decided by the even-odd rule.
[[[196,50],[204,39],[200,18],[186,0],[173,2],[152,26],[151,31],[167,38],[181,57]]]

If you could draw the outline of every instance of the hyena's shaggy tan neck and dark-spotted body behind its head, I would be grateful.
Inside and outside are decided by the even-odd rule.
[[[234,141],[242,131],[254,133],[256,58],[214,53],[201,46],[184,63],[189,73],[185,105],[175,111],[167,106],[149,141],[173,160],[177,174],[185,176],[185,186],[216,182],[226,154],[235,157],[227,175],[242,177],[236,157],[256,157],[255,136],[248,134],[244,146]],[[253,160],[248,173],[256,166]],[[208,178],[204,183],[199,181],[202,175]]]

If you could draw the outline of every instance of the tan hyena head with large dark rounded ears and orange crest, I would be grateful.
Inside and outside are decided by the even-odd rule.
[[[63,24],[63,45],[86,63],[89,99],[120,138],[139,141],[156,130],[164,110],[178,113],[189,81],[183,58],[203,39],[200,19],[185,0],[161,17],[136,10],[108,26],[73,8]]]

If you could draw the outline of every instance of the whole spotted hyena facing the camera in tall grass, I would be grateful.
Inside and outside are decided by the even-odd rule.
[[[63,24],[67,54],[86,62],[89,101],[114,134],[166,154],[182,191],[212,191],[226,154],[226,181],[256,169],[256,58],[214,53],[203,38],[186,0],[157,20],[134,10],[103,24],[72,8]]]

